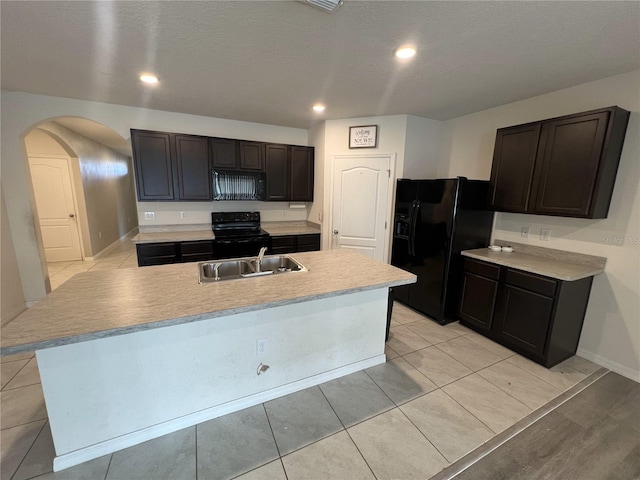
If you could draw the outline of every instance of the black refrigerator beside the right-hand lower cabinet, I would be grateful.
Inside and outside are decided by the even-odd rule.
[[[489,245],[489,182],[465,177],[398,180],[391,264],[414,273],[396,300],[438,323],[457,320],[462,250]]]

